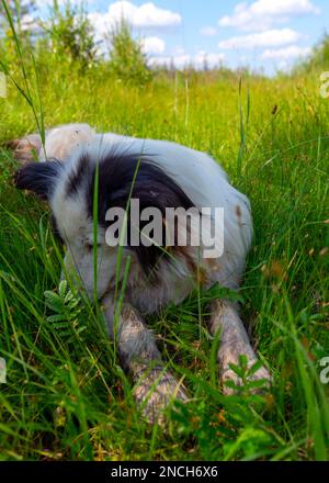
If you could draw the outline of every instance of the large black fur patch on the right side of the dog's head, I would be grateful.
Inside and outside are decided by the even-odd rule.
[[[89,164],[89,166],[91,166]],[[138,168],[138,169],[137,169]],[[194,206],[184,191],[160,167],[155,165],[151,156],[148,158],[136,155],[111,154],[102,159],[99,165],[99,223],[105,228],[110,222],[105,221],[106,211],[114,206],[127,207],[132,183],[135,178],[132,198],[139,200],[139,209],[158,207],[163,217],[166,207],[182,206],[185,210]],[[93,196],[95,182],[95,167],[92,168],[87,188],[87,202],[89,216],[92,218]],[[129,217],[128,217],[129,220]],[[140,229],[148,222],[140,222]],[[164,238],[163,226],[163,240]],[[131,240],[131,226],[127,226],[127,242]],[[146,274],[156,277],[159,258],[169,260],[162,249],[156,245],[145,247],[131,246],[138,257]]]

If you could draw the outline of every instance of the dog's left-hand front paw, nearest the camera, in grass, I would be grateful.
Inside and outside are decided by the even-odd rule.
[[[183,384],[161,369],[140,378],[134,387],[134,397],[147,420],[159,425],[164,424],[164,409],[175,400],[188,401]]]

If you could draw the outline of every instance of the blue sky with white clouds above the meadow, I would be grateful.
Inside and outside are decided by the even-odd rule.
[[[209,67],[249,66],[272,75],[288,70],[329,32],[328,0],[86,0],[84,5],[100,42],[123,15],[149,64],[178,68],[198,68],[206,59]]]

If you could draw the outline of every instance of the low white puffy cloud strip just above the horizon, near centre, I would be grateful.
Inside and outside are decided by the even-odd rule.
[[[225,59],[225,54],[222,53],[205,53],[203,50],[195,55],[190,55],[185,53],[180,53],[177,55],[167,55],[161,57],[150,57],[150,66],[171,66],[173,65],[177,69],[184,69],[189,66],[193,66],[195,69],[203,69],[205,64],[209,68],[218,67]]]

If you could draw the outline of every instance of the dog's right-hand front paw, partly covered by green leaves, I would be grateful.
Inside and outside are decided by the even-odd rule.
[[[253,361],[254,363],[254,361]],[[247,377],[249,382],[263,381],[259,387],[250,387],[251,394],[262,394],[272,384],[272,377],[264,366],[261,366],[256,372]],[[239,387],[243,385],[242,379],[230,368],[226,369],[220,377],[223,393],[232,395],[239,393]],[[227,384],[229,382],[229,384]]]

